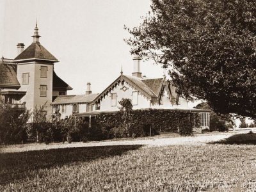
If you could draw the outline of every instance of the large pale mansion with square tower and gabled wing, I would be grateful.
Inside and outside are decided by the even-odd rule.
[[[202,127],[209,127],[210,111],[189,108],[188,100],[175,93],[175,86],[166,77],[143,77],[138,56],[132,58],[132,74],[123,74],[121,70],[101,93],[92,93],[91,84],[87,83],[84,95],[67,95],[72,88],[54,72],[54,63],[59,61],[40,44],[37,24],[32,37],[33,43],[26,49],[24,44],[17,44],[19,54],[16,58],[0,59],[0,97],[13,108],[33,111],[44,106],[49,119],[63,119],[70,115],[92,118],[100,113],[120,110],[118,102],[127,98],[132,100],[132,109],[200,113]]]

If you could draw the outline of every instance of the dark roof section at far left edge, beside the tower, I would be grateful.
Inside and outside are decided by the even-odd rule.
[[[0,60],[0,88],[20,88],[20,83],[17,79],[17,65],[12,62],[5,62],[6,59]],[[8,60],[10,61],[10,60]]]

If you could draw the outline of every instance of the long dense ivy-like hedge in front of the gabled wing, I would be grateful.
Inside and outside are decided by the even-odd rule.
[[[198,124],[198,116],[184,111],[121,110],[115,114],[100,114],[92,123],[91,129],[102,133],[98,134],[102,138],[97,140],[148,136],[150,129],[151,135],[159,134],[160,131],[179,131],[181,135],[191,135],[194,122]]]

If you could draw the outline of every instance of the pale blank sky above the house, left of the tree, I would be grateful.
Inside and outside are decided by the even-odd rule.
[[[70,94],[102,92],[120,75],[133,68],[129,37],[132,28],[150,10],[150,0],[1,0],[0,56],[15,58],[17,43],[25,49],[32,42],[36,18],[40,43],[60,62],[54,70],[72,86]],[[147,77],[163,77],[163,68],[152,61],[141,62]]]

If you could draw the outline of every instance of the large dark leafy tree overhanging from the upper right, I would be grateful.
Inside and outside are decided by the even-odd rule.
[[[256,1],[152,0],[131,53],[170,67],[177,93],[256,118]]]

